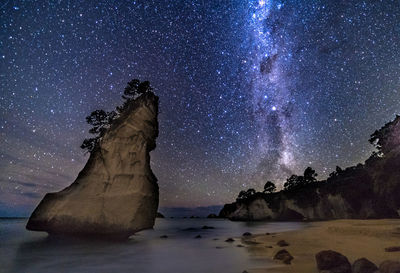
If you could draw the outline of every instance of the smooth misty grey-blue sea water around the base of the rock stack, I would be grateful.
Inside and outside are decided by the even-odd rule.
[[[241,273],[268,266],[228,237],[303,228],[296,222],[231,222],[223,219],[157,219],[153,230],[127,241],[54,238],[25,230],[27,219],[0,219],[0,272]],[[202,226],[215,229],[201,229]],[[167,235],[168,238],[160,238]],[[196,239],[197,235],[202,238]],[[216,240],[217,239],[217,240]]]

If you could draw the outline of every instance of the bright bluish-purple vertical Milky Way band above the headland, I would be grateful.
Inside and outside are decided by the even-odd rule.
[[[281,28],[282,3],[259,1],[251,5],[251,30],[253,56],[251,63],[251,90],[253,111],[258,125],[259,147],[253,158],[259,161],[256,174],[271,180],[284,179],[290,175],[294,165],[293,149],[296,146],[292,131],[290,68],[292,50],[291,37]],[[290,33],[289,33],[290,35]]]

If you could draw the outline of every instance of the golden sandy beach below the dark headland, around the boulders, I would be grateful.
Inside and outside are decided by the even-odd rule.
[[[289,246],[279,247],[280,240]],[[243,237],[242,241],[248,242],[248,250],[254,257],[272,259],[280,249],[286,249],[294,257],[290,265],[274,261],[273,268],[249,268],[249,273],[318,272],[315,254],[322,250],[340,252],[350,263],[365,257],[379,266],[384,260],[400,260],[400,251],[385,251],[387,247],[400,246],[400,219],[313,222],[303,230]]]

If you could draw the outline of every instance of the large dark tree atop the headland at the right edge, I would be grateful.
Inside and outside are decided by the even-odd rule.
[[[369,142],[377,148],[379,156],[383,156],[394,148],[400,147],[400,116],[396,115],[393,121],[376,130],[371,135]]]

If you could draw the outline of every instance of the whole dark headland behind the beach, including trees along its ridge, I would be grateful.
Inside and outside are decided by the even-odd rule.
[[[263,192],[241,191],[219,216],[231,220],[331,220],[398,218],[400,213],[400,116],[376,130],[369,142],[376,151],[353,167],[336,167],[317,181],[308,167],[292,175],[275,192],[268,181]]]

